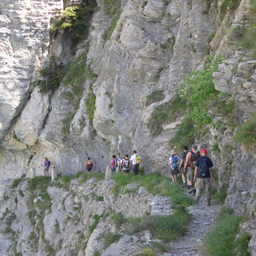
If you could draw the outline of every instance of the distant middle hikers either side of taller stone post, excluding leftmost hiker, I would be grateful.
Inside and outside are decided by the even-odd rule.
[[[132,156],[130,158],[128,154],[123,156],[121,156],[120,153],[118,153],[117,156],[113,154],[110,160],[110,169],[112,172],[123,172],[126,174],[132,171],[134,175],[138,175],[139,164],[141,162],[142,158],[137,154],[136,150],[132,152]],[[85,166],[87,171],[90,171],[93,168],[94,164],[90,161],[90,158],[87,158]]]

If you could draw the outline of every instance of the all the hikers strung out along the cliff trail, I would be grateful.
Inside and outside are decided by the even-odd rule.
[[[207,157],[207,154],[206,149],[202,149],[199,152],[196,145],[192,145],[191,150],[188,150],[187,146],[183,146],[181,158],[178,158],[175,150],[170,151],[168,166],[170,166],[170,176],[173,182],[176,182],[178,174],[182,174],[182,187],[187,187],[190,190],[189,193],[195,196],[196,204],[201,198],[202,190],[205,189],[206,202],[210,206],[210,189],[211,184],[214,183],[214,165],[211,159]],[[114,154],[110,160],[110,169],[112,172],[128,174],[131,171],[134,175],[138,175],[141,162],[142,158],[137,154],[136,150],[132,152],[130,158],[128,154],[123,156]],[[50,160],[45,158],[42,166],[45,176],[48,176]],[[94,164],[90,158],[87,158],[85,166],[88,172],[92,170]]]

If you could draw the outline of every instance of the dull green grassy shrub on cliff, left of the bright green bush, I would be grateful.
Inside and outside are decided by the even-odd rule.
[[[147,128],[152,136],[162,133],[162,126],[165,123],[173,122],[186,110],[186,102],[179,95],[174,96],[169,102],[154,108],[148,122]]]

